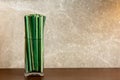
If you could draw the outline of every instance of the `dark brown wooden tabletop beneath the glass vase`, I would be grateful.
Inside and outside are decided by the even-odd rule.
[[[119,68],[45,68],[44,77],[24,77],[24,69],[0,69],[0,80],[120,80]]]

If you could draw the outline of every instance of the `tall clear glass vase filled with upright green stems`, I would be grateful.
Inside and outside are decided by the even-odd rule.
[[[43,76],[45,16],[30,14],[25,19],[25,76]]]

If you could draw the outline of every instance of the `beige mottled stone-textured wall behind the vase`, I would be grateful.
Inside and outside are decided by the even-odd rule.
[[[0,68],[24,67],[30,13],[47,16],[45,67],[120,67],[120,0],[0,0]]]

